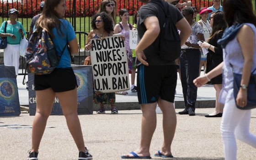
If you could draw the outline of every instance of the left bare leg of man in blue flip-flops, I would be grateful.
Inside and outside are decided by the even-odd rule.
[[[140,147],[136,149],[134,152],[139,156],[149,156],[149,147],[151,143],[151,139],[153,133],[155,132],[156,127],[156,102],[155,103],[148,103],[142,104],[142,121],[141,121],[141,140],[140,140]],[[133,157],[132,154],[128,154],[126,156]]]

